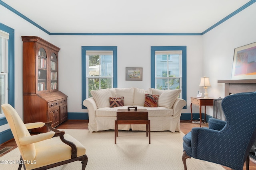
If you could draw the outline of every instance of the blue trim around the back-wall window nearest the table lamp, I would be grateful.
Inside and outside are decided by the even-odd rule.
[[[182,51],[182,99],[187,100],[187,47],[186,46],[152,46],[151,47],[151,88],[155,88],[155,51]],[[186,109],[186,106],[183,107]]]

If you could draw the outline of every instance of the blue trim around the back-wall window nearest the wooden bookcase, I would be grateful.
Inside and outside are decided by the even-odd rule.
[[[86,99],[86,50],[113,51],[113,88],[117,87],[117,46],[82,46],[82,109]]]

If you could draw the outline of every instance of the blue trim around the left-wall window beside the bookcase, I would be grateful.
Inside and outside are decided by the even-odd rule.
[[[14,29],[0,23],[0,29],[9,33],[8,40],[8,104],[14,107]],[[6,124],[6,118],[0,118],[0,125]]]

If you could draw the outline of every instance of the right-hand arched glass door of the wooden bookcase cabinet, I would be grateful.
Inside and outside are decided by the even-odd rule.
[[[58,63],[55,53],[51,54],[50,60],[50,90],[58,90]]]

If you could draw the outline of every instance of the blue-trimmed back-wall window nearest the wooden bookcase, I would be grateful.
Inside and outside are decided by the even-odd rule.
[[[117,87],[117,47],[82,47],[82,102],[90,91]],[[86,108],[82,106],[82,108]]]

